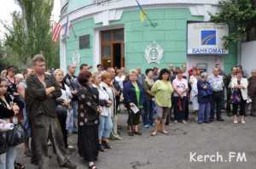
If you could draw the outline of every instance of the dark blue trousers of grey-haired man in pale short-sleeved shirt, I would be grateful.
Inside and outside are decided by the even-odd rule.
[[[224,104],[224,92],[213,92],[212,102],[211,102],[211,120],[214,120],[214,115],[216,112],[217,119],[221,119],[221,109]]]

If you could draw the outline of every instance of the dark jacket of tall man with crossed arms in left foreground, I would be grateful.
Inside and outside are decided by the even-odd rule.
[[[36,75],[31,75],[26,79],[26,110],[28,118],[32,121],[37,115],[57,116],[55,113],[55,99],[61,97],[61,89],[53,76],[45,74],[44,81],[46,88],[55,87],[55,92],[47,96],[44,85]]]

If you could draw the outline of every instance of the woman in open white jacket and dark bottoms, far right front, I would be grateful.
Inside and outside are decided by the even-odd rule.
[[[245,124],[245,112],[247,105],[247,79],[242,77],[242,71],[237,70],[236,77],[232,78],[231,88],[232,88],[232,104],[233,104],[233,115],[234,115],[234,123],[238,123],[237,121],[237,110],[240,107],[239,114],[241,115],[241,123]]]

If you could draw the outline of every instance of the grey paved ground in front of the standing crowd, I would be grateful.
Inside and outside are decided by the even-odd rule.
[[[126,115],[119,116],[123,125],[122,141],[113,141],[113,149],[103,152],[96,165],[100,169],[253,169],[256,166],[256,117],[248,116],[247,124],[232,124],[232,118],[224,115],[224,122],[214,121],[210,124],[198,125],[195,121],[188,124],[171,123],[166,127],[170,136],[158,134],[150,137],[151,129],[143,129],[143,136],[129,137],[126,134]],[[76,144],[76,135],[69,138]],[[235,158],[229,162],[230,152]],[[223,162],[190,162],[198,155],[223,155]],[[244,152],[242,162],[236,162],[238,154]],[[197,153],[194,155],[193,153]],[[59,168],[55,156],[50,153],[51,163],[49,168]],[[194,156],[193,156],[194,155]],[[70,153],[74,162],[79,164],[79,169],[87,168],[84,161],[79,158],[77,151]],[[201,158],[199,156],[199,158]],[[213,157],[212,157],[213,158]],[[199,159],[200,160],[200,159]],[[212,159],[214,160],[214,159]],[[215,158],[216,160],[216,158]],[[225,162],[225,160],[227,160]],[[23,157],[20,149],[18,161],[24,162],[26,168],[32,169],[29,160]]]

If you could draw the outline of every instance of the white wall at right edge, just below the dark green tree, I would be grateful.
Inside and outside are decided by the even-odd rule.
[[[256,70],[256,41],[241,43],[241,65],[248,75]]]

